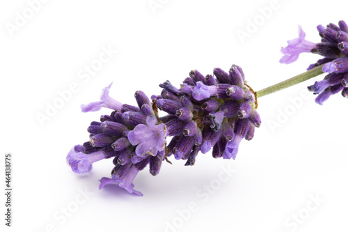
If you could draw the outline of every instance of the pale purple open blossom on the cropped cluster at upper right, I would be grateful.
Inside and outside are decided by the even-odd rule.
[[[282,47],[280,52],[284,55],[280,59],[280,63],[292,63],[299,58],[302,52],[310,52],[315,48],[315,43],[305,40],[306,33],[299,26],[299,38],[287,41],[287,47]]]

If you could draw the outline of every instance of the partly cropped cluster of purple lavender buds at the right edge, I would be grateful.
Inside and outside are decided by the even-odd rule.
[[[305,40],[306,33],[299,26],[299,38],[287,41],[287,47],[283,47],[280,63],[292,63],[296,61],[302,52],[311,52],[324,56],[316,63],[311,64],[308,70],[323,65],[322,71],[329,74],[320,81],[308,86],[308,90],[319,94],[315,99],[319,105],[329,99],[335,93],[341,92],[348,98],[348,26],[344,21],[329,24],[326,28],[317,26],[321,42],[314,43]]]

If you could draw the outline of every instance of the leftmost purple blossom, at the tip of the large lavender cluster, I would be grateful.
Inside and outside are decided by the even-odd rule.
[[[85,154],[82,152],[82,146],[74,146],[66,158],[68,165],[72,171],[76,173],[87,173],[92,169],[92,164],[105,158],[102,150],[94,153]]]

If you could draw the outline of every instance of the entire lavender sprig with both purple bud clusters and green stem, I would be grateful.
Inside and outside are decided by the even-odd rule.
[[[280,63],[292,63],[302,52],[324,56],[309,66],[308,71],[269,86],[258,92],[245,82],[244,72],[232,65],[229,72],[214,69],[214,75],[203,76],[192,70],[180,88],[166,81],[159,86],[160,95],[151,100],[142,91],[134,97],[138,106],[122,104],[109,97],[111,84],[104,88],[100,101],[82,105],[83,112],[97,111],[102,107],[112,109],[110,115],[100,117],[88,127],[89,141],[74,146],[67,156],[68,165],[76,173],[87,173],[94,162],[113,158],[111,178],[100,179],[100,188],[118,184],[129,193],[141,195],[132,183],[139,171],[149,165],[156,176],[164,160],[187,160],[195,164],[199,153],[212,150],[214,158],[235,160],[243,139],[254,137],[255,127],[260,127],[258,98],[294,84],[299,84],[323,72],[324,80],[308,87],[319,94],[319,105],[331,95],[341,91],[348,97],[348,26],[340,21],[338,26],[317,26],[322,41],[315,44],[305,40],[306,34],[299,26],[299,38],[289,40],[281,49]],[[159,117],[158,110],[167,114]],[[167,137],[171,141],[167,142]],[[170,162],[171,163],[171,162]]]

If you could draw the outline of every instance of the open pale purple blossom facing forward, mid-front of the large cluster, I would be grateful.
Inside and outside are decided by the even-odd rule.
[[[146,124],[136,125],[134,130],[128,133],[129,142],[136,146],[135,153],[138,156],[157,155],[158,151],[164,150],[166,146],[166,125],[157,124],[155,116],[148,116]]]

